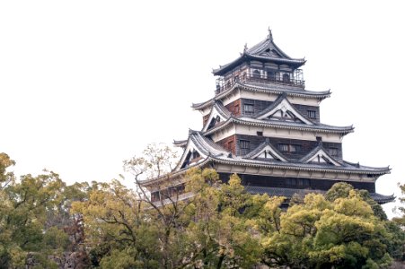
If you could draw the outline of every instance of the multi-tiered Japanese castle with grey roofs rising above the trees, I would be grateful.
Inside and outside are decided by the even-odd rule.
[[[330,91],[307,91],[304,58],[292,58],[277,47],[271,30],[257,45],[213,70],[215,96],[192,108],[202,114],[202,128],[189,130],[170,177],[145,180],[153,201],[184,193],[185,172],[193,167],[216,169],[226,181],[233,173],[251,194],[285,196],[326,193],[346,182],[365,189],[379,204],[393,195],[375,192],[375,181],[389,167],[344,161],[342,140],[353,126],[321,123],[321,101]]]

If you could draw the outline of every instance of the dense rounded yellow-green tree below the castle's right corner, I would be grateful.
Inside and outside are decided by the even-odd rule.
[[[347,198],[335,198],[330,202],[322,195],[306,195],[304,204],[288,208],[279,232],[266,241],[264,262],[291,268],[388,266],[384,221],[354,190]]]

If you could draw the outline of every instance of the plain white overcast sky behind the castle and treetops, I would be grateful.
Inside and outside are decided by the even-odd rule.
[[[280,48],[307,59],[306,89],[331,89],[321,122],[356,127],[344,159],[391,165],[377,191],[400,195],[401,1],[303,2],[1,1],[0,152],[17,174],[116,178],[147,143],[201,128],[189,106],[213,96],[212,68],[270,26]]]

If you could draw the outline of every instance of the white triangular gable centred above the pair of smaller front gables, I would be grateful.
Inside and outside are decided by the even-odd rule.
[[[258,119],[272,119],[272,120],[286,120],[301,122],[313,126],[313,122],[305,118],[291,103],[286,100],[281,100],[279,104],[267,111],[266,113],[257,117]]]

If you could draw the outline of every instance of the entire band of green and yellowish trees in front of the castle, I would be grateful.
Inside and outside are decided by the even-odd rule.
[[[237,175],[224,183],[214,169],[189,169],[179,181],[187,199],[152,202],[139,177],[162,176],[173,156],[152,146],[126,161],[132,190],[119,180],[66,186],[48,171],[16,180],[0,154],[0,267],[57,268],[48,256],[72,251],[81,268],[387,268],[403,259],[403,218],[388,221],[345,183],[282,210],[285,197],[250,195]]]

